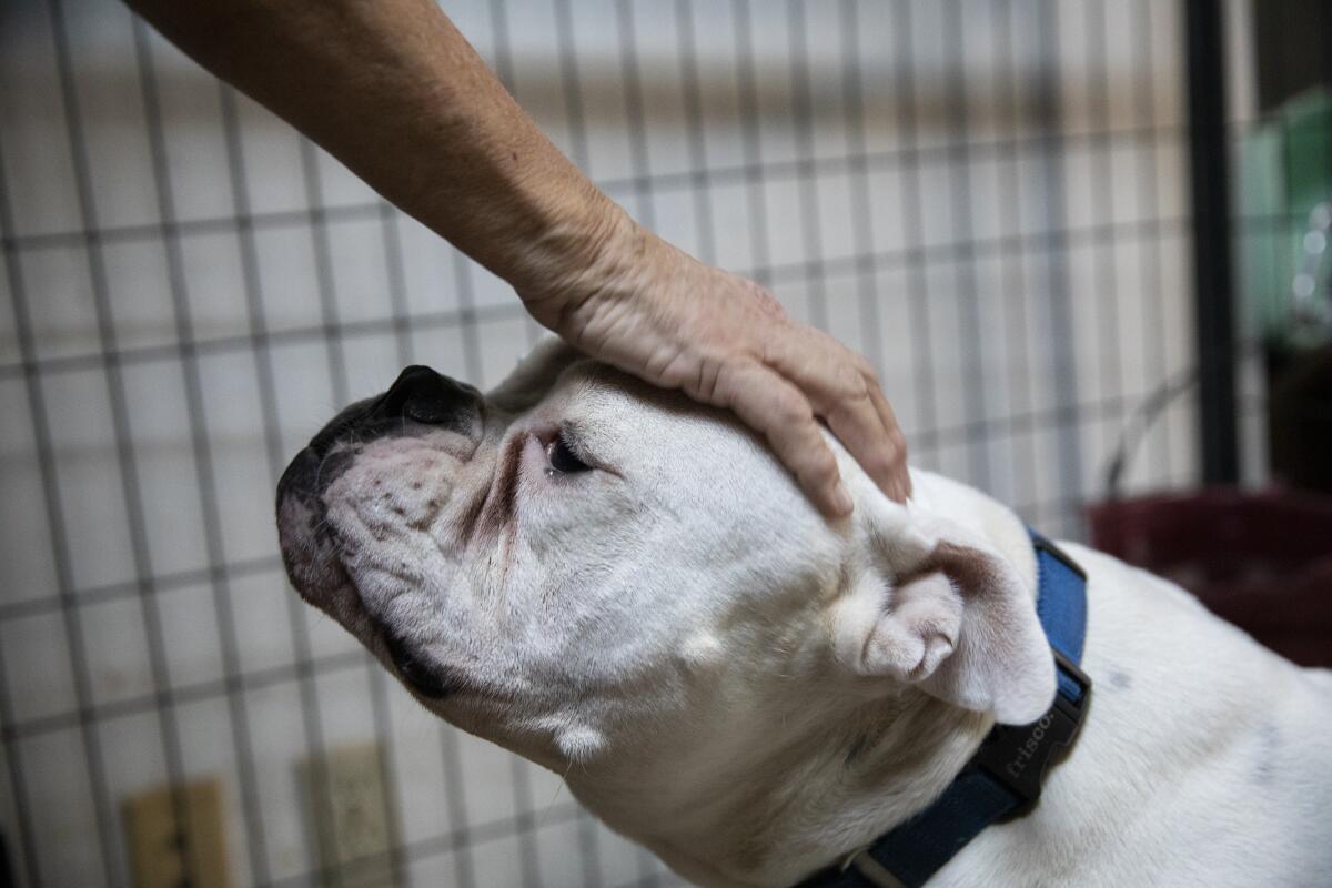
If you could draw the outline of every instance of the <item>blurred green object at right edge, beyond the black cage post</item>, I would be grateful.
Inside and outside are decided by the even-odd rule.
[[[1301,93],[1245,133],[1239,200],[1243,292],[1264,339],[1285,349],[1332,341],[1332,245],[1317,230],[1332,205],[1332,91]]]

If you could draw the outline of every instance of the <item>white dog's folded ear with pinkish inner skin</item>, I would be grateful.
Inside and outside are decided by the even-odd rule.
[[[870,510],[860,575],[836,604],[838,660],[1002,723],[1039,719],[1054,656],[1016,568],[951,522],[888,509],[900,514],[887,522]]]

